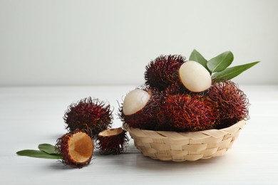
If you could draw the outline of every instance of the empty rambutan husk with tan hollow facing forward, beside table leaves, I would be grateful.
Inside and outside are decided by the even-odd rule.
[[[82,168],[91,162],[93,141],[86,132],[76,129],[57,139],[56,150],[63,164]]]

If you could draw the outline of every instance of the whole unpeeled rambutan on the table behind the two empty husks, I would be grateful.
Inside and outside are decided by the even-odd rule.
[[[112,124],[113,115],[110,105],[105,105],[98,99],[86,97],[79,102],[73,103],[66,110],[63,120],[66,122],[66,129],[85,129],[90,131],[92,137],[108,129]]]

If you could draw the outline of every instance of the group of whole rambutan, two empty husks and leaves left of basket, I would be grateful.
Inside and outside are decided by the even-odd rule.
[[[110,105],[86,97],[68,106],[63,116],[68,132],[59,137],[55,146],[39,144],[39,150],[25,149],[16,154],[27,157],[59,159],[74,168],[88,166],[93,150],[100,154],[121,154],[128,145],[126,131],[110,129],[113,115]]]

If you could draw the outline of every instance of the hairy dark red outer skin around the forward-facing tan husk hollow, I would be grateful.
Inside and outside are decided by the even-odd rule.
[[[79,169],[84,166],[88,166],[88,164],[90,164],[91,159],[93,157],[93,152],[92,152],[91,157],[88,157],[88,159],[85,162],[78,162],[76,159],[73,159],[73,157],[71,156],[70,147],[69,147],[70,139],[73,138],[74,134],[80,134],[80,133],[86,134],[91,139],[91,136],[88,135],[86,132],[76,129],[74,131],[63,134],[62,137],[58,138],[57,142],[56,142],[56,146],[55,146],[57,153],[62,155],[61,162],[63,164],[66,164],[73,168],[79,168]],[[89,143],[89,144],[92,144],[91,147],[93,149],[93,141],[92,140],[91,140],[91,143]]]

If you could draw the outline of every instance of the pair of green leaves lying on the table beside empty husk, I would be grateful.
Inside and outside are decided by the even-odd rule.
[[[36,157],[36,158],[43,158],[43,159],[62,159],[61,154],[56,152],[56,149],[51,144],[39,144],[38,149],[24,149],[16,154],[20,156],[26,157]]]

